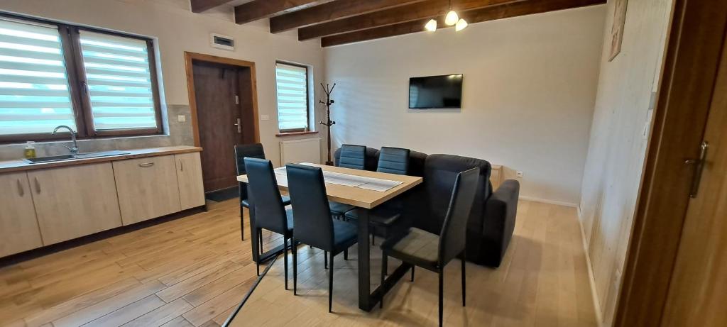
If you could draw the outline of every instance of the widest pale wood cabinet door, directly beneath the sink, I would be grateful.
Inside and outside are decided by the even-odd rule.
[[[111,163],[28,171],[44,245],[121,226]]]

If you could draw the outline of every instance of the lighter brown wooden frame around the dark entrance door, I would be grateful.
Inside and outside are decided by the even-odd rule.
[[[258,123],[259,113],[257,111],[257,77],[255,76],[255,63],[247,60],[239,60],[228,57],[218,57],[214,55],[205,55],[196,52],[184,52],[185,70],[187,73],[187,94],[189,95],[189,107],[191,110],[192,134],[194,136],[194,145],[200,146],[199,126],[197,122],[197,97],[194,93],[194,70],[193,63],[195,61],[212,62],[222,65],[231,65],[241,68],[250,68],[250,81],[252,87],[252,126],[254,126],[254,142],[260,143],[260,124]]]

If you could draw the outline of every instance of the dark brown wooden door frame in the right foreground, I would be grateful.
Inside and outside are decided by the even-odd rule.
[[[674,0],[614,326],[659,326],[727,28],[727,2]]]

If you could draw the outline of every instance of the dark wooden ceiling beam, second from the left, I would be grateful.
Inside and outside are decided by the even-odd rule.
[[[254,0],[235,6],[235,23],[250,23],[330,1],[332,0]]]

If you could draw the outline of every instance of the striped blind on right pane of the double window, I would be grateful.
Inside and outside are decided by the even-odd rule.
[[[147,42],[83,30],[79,34],[94,129],[156,128]]]

